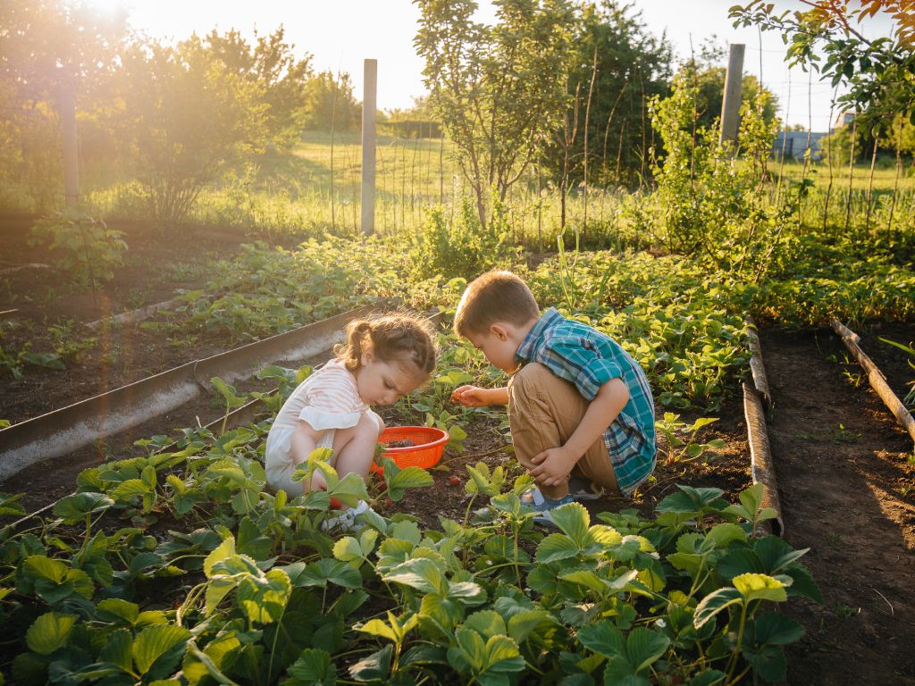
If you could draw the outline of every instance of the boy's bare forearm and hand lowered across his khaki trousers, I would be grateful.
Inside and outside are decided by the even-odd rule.
[[[585,416],[565,445],[549,448],[533,456],[532,461],[537,466],[531,470],[531,476],[544,486],[562,484],[572,467],[576,466],[587,449],[594,445],[617,418],[629,399],[629,388],[622,379],[611,379],[604,383],[588,404]]]

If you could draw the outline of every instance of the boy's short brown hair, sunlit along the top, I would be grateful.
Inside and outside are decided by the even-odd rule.
[[[458,336],[484,334],[496,322],[520,327],[540,316],[540,307],[521,277],[501,269],[481,274],[468,284],[455,312]]]

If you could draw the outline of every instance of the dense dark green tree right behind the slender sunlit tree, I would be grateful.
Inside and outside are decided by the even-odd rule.
[[[589,182],[637,182],[651,135],[645,102],[666,95],[671,78],[670,44],[651,36],[630,5],[583,5],[576,24],[575,57],[565,79],[568,104],[542,151],[564,197],[584,178],[586,137]]]

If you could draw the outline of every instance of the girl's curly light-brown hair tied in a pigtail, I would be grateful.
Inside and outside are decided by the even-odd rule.
[[[384,362],[410,360],[428,376],[436,369],[438,344],[435,328],[425,319],[400,313],[354,319],[346,327],[346,343],[339,343],[334,354],[350,371],[359,369],[362,353],[371,349]]]

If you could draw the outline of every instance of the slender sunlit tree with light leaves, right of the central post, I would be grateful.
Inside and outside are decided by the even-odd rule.
[[[490,192],[504,200],[559,124],[575,16],[567,0],[496,0],[485,26],[472,0],[417,3],[425,86],[486,226]]]

